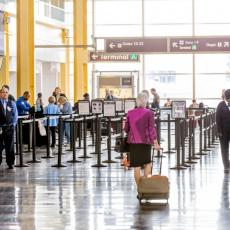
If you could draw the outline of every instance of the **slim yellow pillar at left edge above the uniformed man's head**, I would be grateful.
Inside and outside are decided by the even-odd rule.
[[[5,36],[5,57],[2,69],[0,71],[0,86],[10,84],[10,68],[9,68],[9,14],[4,13],[4,36]]]

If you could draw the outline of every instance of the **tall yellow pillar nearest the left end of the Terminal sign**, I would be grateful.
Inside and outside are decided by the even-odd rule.
[[[87,0],[73,1],[74,45],[87,45]],[[74,48],[74,101],[88,92],[87,48]]]

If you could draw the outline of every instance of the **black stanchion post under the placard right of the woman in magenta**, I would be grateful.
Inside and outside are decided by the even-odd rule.
[[[181,165],[181,155],[180,155],[180,119],[175,119],[175,135],[176,135],[176,165],[170,169],[173,170],[184,170],[186,169]]]

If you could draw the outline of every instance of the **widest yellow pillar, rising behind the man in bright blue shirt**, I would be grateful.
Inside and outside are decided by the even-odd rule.
[[[34,0],[17,0],[17,96],[24,91],[34,104]]]

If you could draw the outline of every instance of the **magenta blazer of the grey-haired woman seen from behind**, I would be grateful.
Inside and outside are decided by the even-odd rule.
[[[157,139],[154,113],[146,108],[130,110],[126,116],[125,132],[128,143],[153,144]]]

